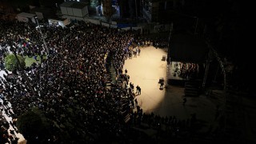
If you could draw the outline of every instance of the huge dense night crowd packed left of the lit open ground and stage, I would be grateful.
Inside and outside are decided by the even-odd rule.
[[[91,23],[64,29],[44,26],[44,46],[33,23],[1,21],[0,26],[3,52],[47,55],[26,67],[26,76],[6,70],[0,87],[3,102],[11,103],[6,114],[18,118],[38,107],[54,123],[48,142],[133,142],[124,119],[133,111],[134,90],[110,82],[106,59],[112,57],[111,65],[121,75],[129,43],[138,38],[136,31]]]

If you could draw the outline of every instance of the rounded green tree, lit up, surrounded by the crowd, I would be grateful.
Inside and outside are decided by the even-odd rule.
[[[17,55],[19,62],[21,63],[22,67],[26,66],[25,63],[25,58],[23,58],[20,55]],[[9,71],[14,71],[14,70],[19,70],[19,66],[18,66],[18,61],[15,58],[14,54],[8,54],[5,58],[5,65],[6,65],[6,70]]]

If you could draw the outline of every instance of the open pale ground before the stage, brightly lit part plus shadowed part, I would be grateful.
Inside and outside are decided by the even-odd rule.
[[[197,98],[187,98],[185,106],[182,106],[184,88],[168,86],[159,90],[159,78],[165,78],[167,63],[162,61],[162,55],[167,55],[166,49],[155,49],[153,46],[142,48],[140,56],[127,59],[124,70],[128,70],[130,82],[134,86],[141,86],[142,94],[137,95],[138,105],[146,113],[154,112],[160,116],[176,116],[179,119],[190,118],[196,113],[197,118],[207,122],[214,122],[216,105],[222,105],[223,98],[207,98],[201,95]],[[215,94],[221,92],[215,91]],[[217,96],[217,95],[216,95]]]

